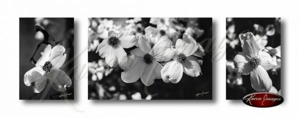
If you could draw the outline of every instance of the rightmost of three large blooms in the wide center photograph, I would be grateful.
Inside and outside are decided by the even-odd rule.
[[[202,75],[197,58],[191,56],[197,49],[198,45],[177,39],[173,61],[166,63],[161,70],[162,80],[165,83],[178,83],[183,72],[191,77]]]

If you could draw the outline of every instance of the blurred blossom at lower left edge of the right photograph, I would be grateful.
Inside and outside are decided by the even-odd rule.
[[[226,79],[226,83],[229,84],[230,86],[233,85],[242,85],[243,84],[243,80],[242,77],[239,73],[237,73],[234,70],[234,64],[232,61],[227,61],[226,60],[226,70],[228,71],[228,75],[227,75],[227,79]]]

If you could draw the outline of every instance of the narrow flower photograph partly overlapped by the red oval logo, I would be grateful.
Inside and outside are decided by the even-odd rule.
[[[226,100],[280,95],[280,17],[226,18]]]

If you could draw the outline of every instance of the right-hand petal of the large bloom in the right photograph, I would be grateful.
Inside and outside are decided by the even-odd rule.
[[[277,66],[277,63],[276,63],[276,56],[274,56],[273,58],[266,52],[264,51],[259,51],[258,52],[258,56],[260,57],[261,59],[261,63],[260,63],[260,66],[265,69],[266,71],[267,70],[270,70],[272,68],[274,68],[275,66]]]

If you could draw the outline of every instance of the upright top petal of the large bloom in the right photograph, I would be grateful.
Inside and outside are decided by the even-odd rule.
[[[255,36],[251,32],[240,34],[239,36],[244,42],[243,52],[248,53],[250,57],[257,56],[259,47],[256,43]]]

